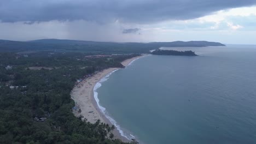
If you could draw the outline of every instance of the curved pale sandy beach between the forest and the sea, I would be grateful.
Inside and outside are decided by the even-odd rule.
[[[121,64],[127,67],[136,59],[144,56],[146,55],[126,59],[125,61],[121,62]],[[73,113],[77,117],[82,115],[83,116],[82,120],[86,118],[87,121],[91,123],[95,123],[97,119],[100,119],[100,121],[103,123],[108,123],[109,125],[115,125],[115,129],[113,131],[113,134],[115,136],[114,138],[120,139],[124,142],[130,142],[131,140],[129,140],[127,137],[122,136],[120,134],[120,127],[118,128],[116,124],[113,124],[113,122],[115,123],[114,119],[107,116],[106,113],[104,113],[105,109],[104,107],[99,105],[97,92],[95,92],[96,89],[101,86],[100,82],[105,81],[104,78],[106,76],[112,74],[114,71],[119,69],[122,69],[122,68],[104,69],[82,80],[77,85],[75,85],[73,90],[71,91],[71,98],[75,101],[75,106],[77,107],[77,110],[74,110]],[[78,112],[79,109],[81,110],[81,112]],[[112,119],[113,121],[110,122],[109,119]]]

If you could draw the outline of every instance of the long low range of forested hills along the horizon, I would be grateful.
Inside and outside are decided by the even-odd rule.
[[[0,40],[0,52],[61,50],[90,53],[149,53],[159,47],[225,46],[208,41],[173,41],[153,43],[113,43],[82,40],[40,39],[32,41]]]

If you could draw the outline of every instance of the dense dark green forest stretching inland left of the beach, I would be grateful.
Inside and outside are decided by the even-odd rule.
[[[0,53],[0,143],[125,143],[113,125],[75,117],[70,92],[77,79],[134,56]]]

